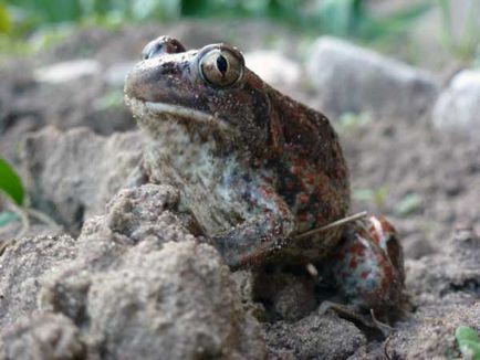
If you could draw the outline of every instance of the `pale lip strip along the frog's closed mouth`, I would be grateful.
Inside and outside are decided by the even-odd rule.
[[[154,116],[173,115],[175,118],[192,120],[198,125],[217,128],[221,133],[232,133],[231,126],[226,120],[196,109],[166,103],[143,102],[132,97],[127,97],[126,102],[139,116],[145,115],[145,113]]]

